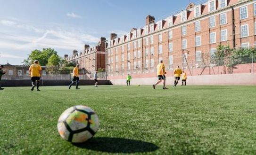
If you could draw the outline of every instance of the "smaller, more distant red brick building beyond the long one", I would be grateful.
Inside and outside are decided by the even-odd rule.
[[[89,45],[84,45],[83,51],[78,52],[77,50],[74,50],[71,56],[66,54],[64,58],[67,62],[80,64],[80,69],[86,70],[87,73],[92,73],[99,68],[105,69],[106,44],[106,38],[101,37],[97,46],[90,47]]]

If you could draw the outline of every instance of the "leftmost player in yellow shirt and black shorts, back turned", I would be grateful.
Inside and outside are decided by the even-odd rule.
[[[39,65],[39,61],[35,60],[34,63],[29,67],[29,75],[32,81],[31,91],[34,90],[35,86],[36,86],[36,90],[40,91],[39,84],[40,84],[41,71],[42,71],[42,68]]]

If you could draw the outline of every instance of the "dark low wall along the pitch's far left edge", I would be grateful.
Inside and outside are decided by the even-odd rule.
[[[71,80],[40,80],[40,85],[56,86],[56,85],[70,85]],[[5,86],[31,86],[30,80],[1,80],[2,87]],[[80,80],[79,85],[94,85],[94,80]],[[109,80],[99,80],[99,85],[112,85]]]

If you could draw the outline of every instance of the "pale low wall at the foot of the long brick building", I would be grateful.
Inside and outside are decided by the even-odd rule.
[[[173,77],[166,85],[173,85]],[[111,79],[113,85],[126,85],[126,79]],[[153,85],[156,78],[132,78],[131,85]],[[181,80],[179,82],[181,84]],[[256,85],[256,73],[188,76],[187,85]]]

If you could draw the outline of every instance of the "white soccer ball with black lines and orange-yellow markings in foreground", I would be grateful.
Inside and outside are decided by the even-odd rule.
[[[74,106],[66,109],[58,118],[58,133],[67,141],[82,143],[98,131],[99,118],[89,107]]]

